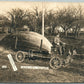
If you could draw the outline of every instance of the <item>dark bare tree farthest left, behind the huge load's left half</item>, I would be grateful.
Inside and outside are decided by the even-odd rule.
[[[12,9],[9,14],[9,20],[11,22],[10,28],[16,31],[24,25],[23,18],[26,16],[24,10],[22,9]]]

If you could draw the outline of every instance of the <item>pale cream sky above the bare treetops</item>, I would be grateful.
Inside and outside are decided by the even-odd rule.
[[[21,9],[30,9],[32,10],[34,7],[38,7],[38,9],[42,9],[43,2],[28,2],[28,1],[0,1],[0,14],[6,14],[12,8],[21,8]],[[79,4],[84,8],[84,3],[64,3],[64,2],[44,2],[44,8],[47,10],[53,9],[56,10],[57,8],[63,7],[78,7]]]

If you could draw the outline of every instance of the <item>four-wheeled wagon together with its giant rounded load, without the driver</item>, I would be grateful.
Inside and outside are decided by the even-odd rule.
[[[6,42],[7,41],[7,42]],[[65,67],[72,62],[70,51],[64,50],[62,55],[58,54],[57,48],[43,35],[26,31],[17,34],[9,34],[2,40],[7,47],[16,50],[15,59],[23,62],[25,58],[34,56],[50,59],[49,65],[53,69]]]

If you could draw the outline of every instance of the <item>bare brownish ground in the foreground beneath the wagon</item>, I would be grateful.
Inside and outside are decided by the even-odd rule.
[[[7,58],[12,50],[5,50],[0,46],[0,82],[84,82],[84,59],[74,58],[72,64],[58,70],[32,70],[21,69],[21,65],[45,66],[49,67],[49,60],[28,60],[23,63],[15,64],[18,68],[13,71],[12,66]],[[12,54],[13,55],[13,54]],[[13,55],[14,57],[15,55]],[[7,65],[7,69],[2,69],[2,65]]]

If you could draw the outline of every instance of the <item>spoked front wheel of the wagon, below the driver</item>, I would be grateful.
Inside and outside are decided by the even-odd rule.
[[[61,60],[59,57],[52,57],[50,60],[50,67],[52,69],[58,69],[61,67]]]

